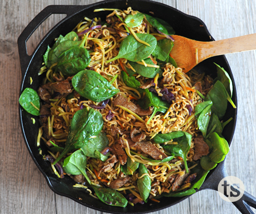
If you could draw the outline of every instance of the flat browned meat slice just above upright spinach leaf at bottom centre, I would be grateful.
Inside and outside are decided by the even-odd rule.
[[[136,142],[135,147],[137,151],[148,154],[151,158],[155,160],[163,160],[164,158],[168,157],[160,149],[151,144],[151,142]]]

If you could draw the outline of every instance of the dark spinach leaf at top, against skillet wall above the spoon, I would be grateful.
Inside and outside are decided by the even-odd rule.
[[[166,35],[175,34],[175,31],[173,30],[173,28],[166,21],[159,18],[154,18],[148,14],[144,14],[144,15],[146,16],[146,19],[148,20],[150,25],[152,25],[155,29],[161,31]]]

